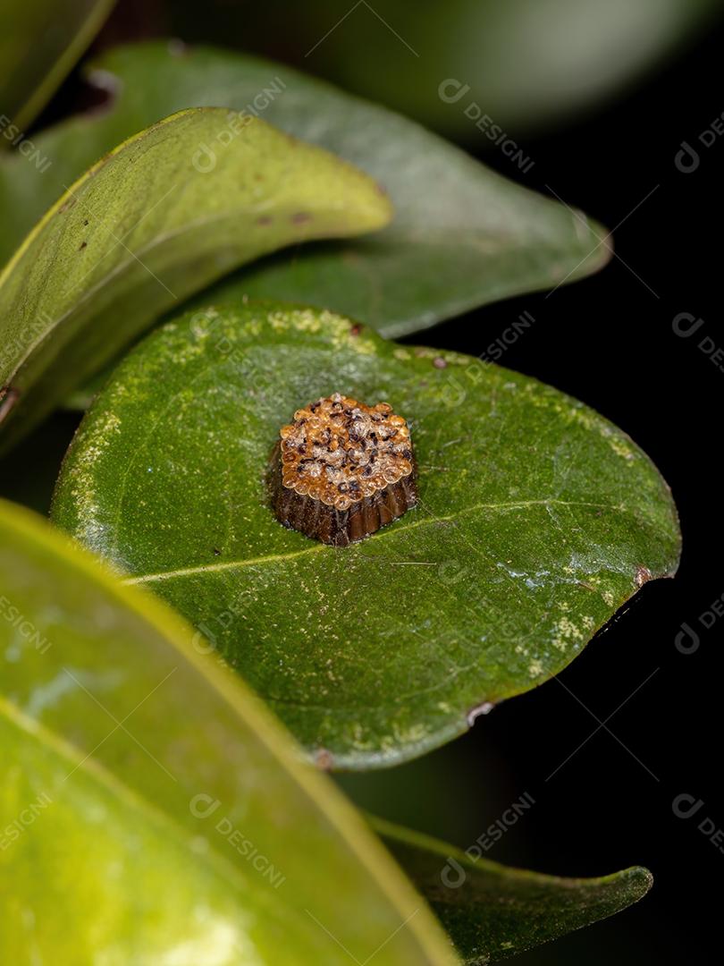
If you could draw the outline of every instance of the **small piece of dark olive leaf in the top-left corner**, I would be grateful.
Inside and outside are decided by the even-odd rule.
[[[3,0],[0,114],[8,125],[0,147],[7,147],[40,114],[113,6],[114,0]],[[16,129],[8,136],[11,124]]]

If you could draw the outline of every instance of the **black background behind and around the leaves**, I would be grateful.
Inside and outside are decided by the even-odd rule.
[[[181,33],[189,42],[225,43],[301,63],[283,17],[254,43],[254,31],[242,29],[234,8],[122,0],[95,49]],[[273,20],[268,11],[260,15]],[[724,845],[698,825],[708,818],[710,831],[724,827],[716,660],[724,618],[709,630],[698,620],[724,593],[717,471],[724,371],[698,344],[708,336],[724,347],[718,239],[724,137],[701,150],[695,171],[684,174],[674,162],[682,141],[696,143],[724,111],[723,42],[724,29],[714,24],[627,95],[544,136],[517,137],[535,160],[525,175],[473,132],[468,150],[506,177],[544,193],[550,185],[609,228],[626,219],[615,244],[627,265],[614,258],[598,275],[548,297],[488,306],[412,340],[480,355],[521,312],[530,312],[535,324],[502,364],[566,390],[624,428],[670,483],[682,519],[676,580],[646,585],[560,680],[495,708],[466,736],[424,759],[340,779],[371,810],[462,847],[527,792],[535,806],[488,858],[567,875],[633,864],[653,870],[654,890],[641,903],[525,953],[521,963],[720,960],[713,950]],[[315,69],[310,62],[303,67]],[[378,67],[384,71],[384,62]],[[82,98],[80,81],[70,78],[43,123]],[[705,320],[691,338],[673,330],[680,312]],[[72,416],[59,415],[29,440],[21,459],[2,468],[4,495],[42,504],[50,476],[23,454],[40,441],[42,461],[57,466],[74,425]],[[700,631],[693,653],[675,646],[684,621]],[[599,727],[594,716],[603,721],[625,701],[606,725],[613,736],[599,729],[591,737]],[[682,793],[703,801],[696,817],[675,815],[672,802]]]

